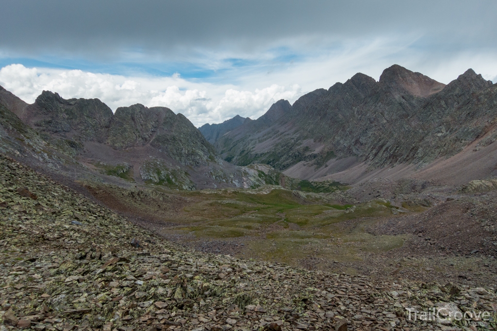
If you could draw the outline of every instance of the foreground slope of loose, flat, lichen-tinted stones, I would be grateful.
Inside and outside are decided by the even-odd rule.
[[[1,331],[497,330],[496,302],[185,250],[0,155]]]

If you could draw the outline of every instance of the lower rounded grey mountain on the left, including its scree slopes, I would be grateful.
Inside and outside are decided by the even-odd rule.
[[[0,151],[72,180],[176,190],[279,184],[270,166],[234,166],[182,114],[43,91],[27,104],[0,87]]]

